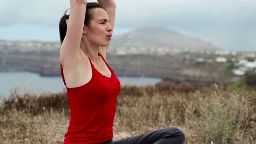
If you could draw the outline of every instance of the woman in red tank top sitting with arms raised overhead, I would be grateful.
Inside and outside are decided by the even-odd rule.
[[[182,144],[178,128],[112,141],[120,81],[106,62],[115,22],[115,1],[70,0],[59,23],[61,75],[71,118],[64,144]]]

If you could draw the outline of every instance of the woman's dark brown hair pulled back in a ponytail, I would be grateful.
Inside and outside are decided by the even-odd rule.
[[[86,12],[85,12],[85,25],[90,25],[91,19],[93,19],[93,9],[94,8],[102,8],[106,11],[105,8],[103,8],[99,3],[87,3],[86,4]],[[59,21],[59,37],[61,44],[66,36],[67,33],[67,19],[69,19],[69,14],[67,15],[67,12],[70,10],[67,9],[64,12],[64,15],[61,17],[61,20]]]

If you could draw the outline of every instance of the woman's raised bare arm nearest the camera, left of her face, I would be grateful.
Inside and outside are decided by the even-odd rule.
[[[80,42],[83,34],[87,0],[70,0],[70,13],[67,33],[61,45],[60,62],[73,65],[79,56]]]

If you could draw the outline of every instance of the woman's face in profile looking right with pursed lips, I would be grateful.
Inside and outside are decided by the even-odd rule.
[[[104,9],[94,8],[93,19],[84,29],[84,34],[91,43],[104,47],[109,45],[113,28],[109,24],[109,16]]]

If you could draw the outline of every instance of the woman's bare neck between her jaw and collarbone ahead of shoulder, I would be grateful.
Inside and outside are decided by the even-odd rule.
[[[91,61],[94,61],[96,64],[98,63],[99,61],[98,45],[93,45],[88,40],[82,40],[80,44],[80,48],[85,53],[85,55],[91,59]]]

